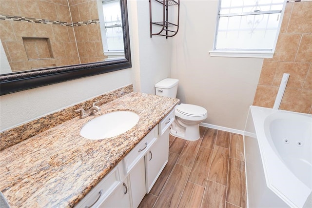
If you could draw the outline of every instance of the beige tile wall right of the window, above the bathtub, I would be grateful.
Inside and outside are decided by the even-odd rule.
[[[286,4],[272,59],[264,59],[254,105],[273,107],[283,73],[289,73],[280,109],[312,114],[312,1]]]

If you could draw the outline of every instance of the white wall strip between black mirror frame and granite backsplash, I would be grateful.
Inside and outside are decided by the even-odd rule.
[[[131,69],[51,84],[0,97],[0,130],[25,123],[131,83]]]

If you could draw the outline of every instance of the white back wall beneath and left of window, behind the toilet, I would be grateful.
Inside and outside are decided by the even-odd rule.
[[[204,123],[243,130],[263,59],[210,57],[217,0],[181,0],[180,29],[173,38],[171,77],[178,98],[208,111]]]

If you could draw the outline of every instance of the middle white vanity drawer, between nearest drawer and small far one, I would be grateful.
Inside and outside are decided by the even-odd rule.
[[[143,140],[133,148],[129,154],[124,158],[124,169],[125,173],[128,174],[131,169],[137,164],[137,162],[144,157],[149,148],[155,143],[157,139],[157,129],[158,125],[156,125],[153,130],[148,133]]]

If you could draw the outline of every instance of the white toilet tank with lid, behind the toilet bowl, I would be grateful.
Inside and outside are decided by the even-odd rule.
[[[155,84],[156,95],[176,98],[178,79],[167,78]]]

